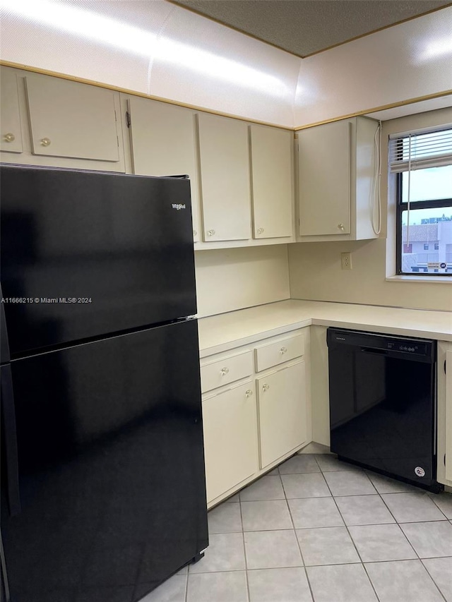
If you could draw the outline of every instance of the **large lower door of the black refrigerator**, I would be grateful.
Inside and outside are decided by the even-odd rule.
[[[11,601],[135,602],[206,548],[197,351],[189,320],[12,362]]]

